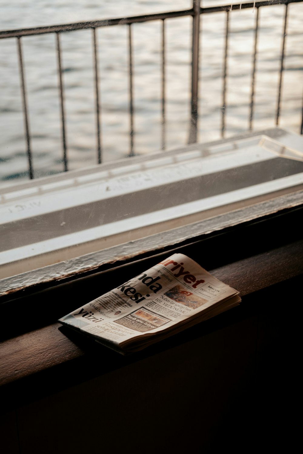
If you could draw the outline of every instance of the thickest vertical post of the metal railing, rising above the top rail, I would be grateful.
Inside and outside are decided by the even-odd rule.
[[[197,142],[199,82],[200,0],[193,0],[192,96],[189,143]]]

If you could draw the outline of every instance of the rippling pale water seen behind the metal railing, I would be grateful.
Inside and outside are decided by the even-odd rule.
[[[147,12],[183,10],[190,1],[126,0],[48,2],[11,0],[2,6],[0,29],[53,25],[83,20],[124,17]],[[204,0],[203,5],[226,4]],[[233,2],[234,3],[234,2]],[[280,51],[285,6],[261,8],[255,86],[254,128],[275,124]],[[303,4],[288,7],[280,125],[299,132],[302,112]],[[230,15],[226,135],[248,128],[252,54],[256,12]],[[222,74],[226,13],[201,16],[199,141],[220,137]],[[190,112],[191,18],[166,20],[166,144],[187,142]],[[161,27],[162,21],[135,24],[134,148],[136,153],[161,147]],[[128,27],[96,31],[99,47],[101,133],[104,161],[129,153]],[[55,36],[22,39],[31,148],[35,176],[60,172],[62,143]],[[61,35],[69,168],[94,165],[97,157],[94,105],[92,30]],[[16,39],[0,40],[0,179],[27,178],[26,146],[21,104]]]

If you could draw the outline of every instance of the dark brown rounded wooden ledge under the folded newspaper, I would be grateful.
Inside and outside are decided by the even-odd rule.
[[[77,333],[70,332],[59,323],[3,342],[0,350],[2,401],[5,401],[5,396],[14,395],[15,405],[17,402],[20,405],[28,398],[33,399],[33,395],[29,395],[29,390],[35,389],[36,395],[40,393],[45,395],[64,389],[93,376],[106,374],[134,361],[174,348],[195,336],[203,336],[209,330],[216,330],[222,324],[233,323],[239,317],[247,316],[247,306],[257,304],[252,300],[258,292],[302,275],[303,240],[244,258],[210,272],[240,291],[243,298],[241,305],[138,354],[124,357]]]

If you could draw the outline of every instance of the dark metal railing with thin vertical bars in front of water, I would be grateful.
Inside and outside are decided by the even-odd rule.
[[[258,40],[258,21],[259,21],[259,9],[261,7],[268,7],[273,5],[285,5],[284,13],[284,27],[283,27],[283,43],[281,49],[281,65],[279,69],[279,84],[278,84],[278,96],[277,96],[277,110],[276,110],[276,125],[279,123],[280,117],[280,105],[281,105],[281,92],[282,92],[282,81],[283,81],[283,70],[284,70],[284,57],[285,57],[285,39],[287,36],[287,18],[288,18],[288,5],[290,3],[300,3],[303,0],[266,0],[266,1],[254,1],[251,3],[239,3],[234,5],[223,5],[201,8],[200,0],[193,0],[193,7],[190,10],[173,11],[159,14],[151,14],[144,16],[134,16],[120,19],[109,19],[109,20],[96,20],[89,22],[78,22],[75,24],[65,25],[51,25],[45,27],[35,27],[20,30],[5,30],[0,31],[0,39],[16,38],[18,42],[18,54],[19,54],[19,69],[20,69],[20,85],[22,89],[22,101],[23,101],[23,113],[25,122],[25,136],[26,136],[26,148],[29,166],[29,177],[34,178],[34,170],[32,167],[31,158],[31,147],[30,147],[30,125],[28,118],[27,108],[27,96],[25,87],[25,69],[23,64],[22,44],[21,39],[24,36],[32,35],[43,35],[46,33],[55,33],[57,40],[57,54],[58,54],[58,74],[59,74],[59,94],[60,94],[60,107],[61,107],[61,129],[62,129],[62,150],[63,150],[63,164],[64,171],[68,170],[68,157],[67,157],[67,144],[66,144],[66,131],[65,131],[65,96],[64,96],[64,85],[62,81],[62,69],[61,69],[61,47],[60,47],[60,34],[74,31],[91,29],[93,33],[93,56],[94,56],[94,82],[95,82],[95,113],[96,113],[96,131],[97,131],[97,162],[102,162],[102,145],[101,145],[101,126],[100,126],[100,114],[101,106],[99,101],[99,75],[98,75],[98,49],[96,40],[96,28],[109,27],[114,25],[128,25],[129,26],[129,156],[134,156],[134,95],[133,95],[133,45],[132,45],[132,24],[148,22],[151,20],[162,20],[162,31],[161,31],[161,44],[162,44],[162,59],[161,59],[161,71],[162,71],[162,101],[161,101],[161,115],[162,115],[162,149],[165,149],[165,125],[166,125],[166,114],[165,114],[165,21],[171,18],[192,16],[193,17],[193,28],[192,28],[192,62],[191,62],[191,117],[189,127],[189,143],[195,143],[197,141],[198,131],[198,118],[199,118],[199,98],[198,98],[198,85],[199,85],[199,34],[200,34],[200,15],[209,14],[216,12],[226,12],[226,30],[225,30],[225,44],[224,44],[224,64],[223,64],[223,89],[222,89],[222,117],[221,117],[221,136],[224,138],[226,125],[226,96],[227,96],[227,84],[226,79],[227,73],[227,60],[228,60],[228,38],[229,38],[229,15],[234,10],[256,8],[257,15],[255,19],[254,28],[254,44],[253,44],[253,68],[252,68],[252,82],[251,82],[251,95],[250,95],[250,109],[249,109],[249,130],[253,128],[253,110],[254,110],[254,95],[255,95],[255,74],[256,74],[256,55],[257,55],[257,40]],[[301,134],[303,134],[303,108],[302,108],[302,121],[301,121]]]

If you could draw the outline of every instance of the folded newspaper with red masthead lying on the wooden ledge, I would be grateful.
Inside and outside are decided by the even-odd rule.
[[[237,306],[238,294],[174,254],[59,321],[127,354]]]

